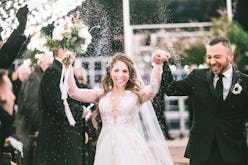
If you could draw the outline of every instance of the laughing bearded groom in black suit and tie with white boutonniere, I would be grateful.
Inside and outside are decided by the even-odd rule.
[[[232,66],[234,52],[224,37],[208,43],[206,56],[208,69],[195,69],[180,81],[164,64],[164,93],[192,98],[185,157],[190,165],[247,165],[248,76]]]

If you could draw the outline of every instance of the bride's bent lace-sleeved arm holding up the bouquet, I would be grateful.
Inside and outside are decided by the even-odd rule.
[[[100,90],[78,88],[74,78],[73,67],[69,66],[68,93],[75,100],[82,102],[95,102],[101,94]]]

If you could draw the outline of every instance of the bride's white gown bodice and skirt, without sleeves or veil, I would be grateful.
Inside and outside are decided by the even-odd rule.
[[[140,109],[137,95],[126,91],[117,107],[112,109],[111,92],[99,102],[102,129],[94,165],[157,165],[144,137],[136,129]]]

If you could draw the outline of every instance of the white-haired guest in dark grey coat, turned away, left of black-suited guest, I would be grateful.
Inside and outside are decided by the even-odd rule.
[[[34,160],[35,142],[39,125],[39,87],[41,79],[52,64],[53,56],[41,54],[34,71],[22,83],[18,96],[18,112],[16,115],[17,134],[24,143],[24,165],[32,165]]]

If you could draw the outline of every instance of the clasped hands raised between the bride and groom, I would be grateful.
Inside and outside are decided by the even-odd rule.
[[[155,64],[163,64],[165,61],[168,61],[170,57],[171,55],[168,52],[158,49],[152,53],[152,62]]]

